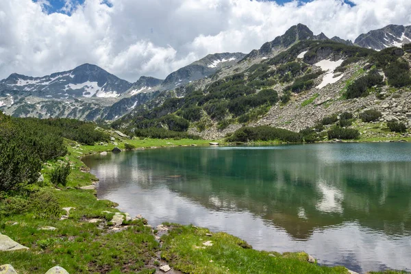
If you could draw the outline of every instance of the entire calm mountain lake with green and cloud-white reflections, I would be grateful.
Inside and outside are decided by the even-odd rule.
[[[411,270],[411,144],[177,147],[84,158],[152,225],[228,232],[358,272]]]

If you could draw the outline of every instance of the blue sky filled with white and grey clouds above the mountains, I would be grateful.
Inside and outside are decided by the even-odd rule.
[[[292,25],[354,40],[411,25],[410,0],[0,0],[0,79],[97,64],[129,82],[209,53],[249,53]]]

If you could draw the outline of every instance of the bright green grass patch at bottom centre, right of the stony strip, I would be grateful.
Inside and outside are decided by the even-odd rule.
[[[308,254],[257,251],[226,233],[210,233],[191,225],[173,225],[164,240],[162,258],[184,273],[347,273],[343,266],[309,264]],[[212,246],[203,242],[211,241]]]

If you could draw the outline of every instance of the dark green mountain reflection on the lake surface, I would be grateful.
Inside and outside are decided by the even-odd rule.
[[[403,235],[411,232],[406,151],[410,145],[160,149],[110,155],[97,169],[99,177],[121,174],[110,188],[166,184],[206,208],[252,212],[297,239],[348,221]]]

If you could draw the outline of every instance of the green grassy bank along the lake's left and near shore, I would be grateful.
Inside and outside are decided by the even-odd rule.
[[[118,147],[123,148],[125,142],[136,147],[162,147],[206,145],[209,141],[122,140],[119,141]],[[96,179],[90,173],[80,171],[86,167],[80,157],[112,148],[114,145],[69,147],[69,155],[61,159],[73,165],[68,188],[44,188],[55,194],[61,208],[74,207],[75,210],[71,210],[69,219],[64,221],[36,219],[33,214],[2,219],[0,232],[30,249],[0,252],[0,264],[12,264],[18,273],[45,273],[55,265],[63,266],[72,274],[153,273],[154,267],[158,265],[155,253],[161,249],[162,257],[175,269],[185,273],[347,273],[342,267],[329,268],[308,264],[306,253],[280,255],[256,251],[248,249],[247,243],[229,234],[218,233],[208,237],[205,236],[207,229],[192,226],[175,225],[170,235],[163,236],[162,248],[155,241],[151,229],[144,226],[144,220],[128,223],[126,229],[114,233],[110,229],[113,214],[103,211],[118,212],[114,208],[116,204],[98,201],[93,190],[75,189],[89,185]],[[45,165],[42,171],[45,185],[49,182],[49,171],[57,164],[58,160],[55,160]],[[62,211],[62,214],[64,213]],[[88,219],[95,218],[103,219],[103,223],[88,223]],[[58,230],[38,230],[44,226],[53,226]],[[206,240],[212,240],[214,245],[198,249]]]

